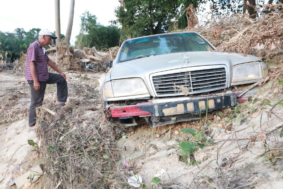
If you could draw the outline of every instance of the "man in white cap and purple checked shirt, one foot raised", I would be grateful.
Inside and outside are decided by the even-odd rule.
[[[68,97],[66,75],[48,58],[44,46],[57,37],[48,30],[40,30],[38,40],[27,50],[25,79],[30,86],[31,102],[29,107],[29,131],[35,130],[35,108],[42,105],[46,84],[57,84],[57,105],[65,105]],[[47,65],[59,74],[49,73]]]

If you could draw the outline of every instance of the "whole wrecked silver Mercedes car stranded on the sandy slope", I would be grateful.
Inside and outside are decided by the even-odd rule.
[[[124,125],[145,118],[154,127],[199,119],[235,106],[234,85],[268,74],[258,57],[214,50],[195,32],[125,40],[102,85],[106,115]]]

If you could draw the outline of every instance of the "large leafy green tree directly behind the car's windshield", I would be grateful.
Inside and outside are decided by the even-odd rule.
[[[177,13],[177,0],[127,0],[115,10],[124,36],[167,32]]]

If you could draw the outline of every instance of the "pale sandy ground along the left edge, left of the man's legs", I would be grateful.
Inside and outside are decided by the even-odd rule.
[[[12,75],[10,72],[1,73],[0,95],[15,90],[19,90],[21,94],[28,93],[28,86],[21,84],[21,82],[26,82],[23,75]],[[35,156],[32,153],[33,148],[27,142],[28,140],[38,141],[35,133],[28,131],[27,109],[29,103],[30,98],[24,97],[0,112],[2,115],[9,115],[6,120],[8,124],[0,125],[0,178],[1,180],[4,179],[0,183],[0,188],[8,187],[7,184],[9,185],[10,181],[13,183],[13,178],[27,172],[28,168],[35,163]],[[21,110],[25,111],[25,113],[21,113]],[[4,120],[1,121],[3,123]]]

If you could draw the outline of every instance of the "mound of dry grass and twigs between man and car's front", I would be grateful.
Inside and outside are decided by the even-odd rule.
[[[98,92],[78,85],[70,88],[70,97],[78,92],[80,99],[56,107],[56,116],[37,109],[45,188],[55,188],[59,182],[61,188],[78,189],[111,188],[120,180],[125,182],[117,173],[117,135],[113,126],[103,123]],[[54,109],[52,103],[47,107]]]

